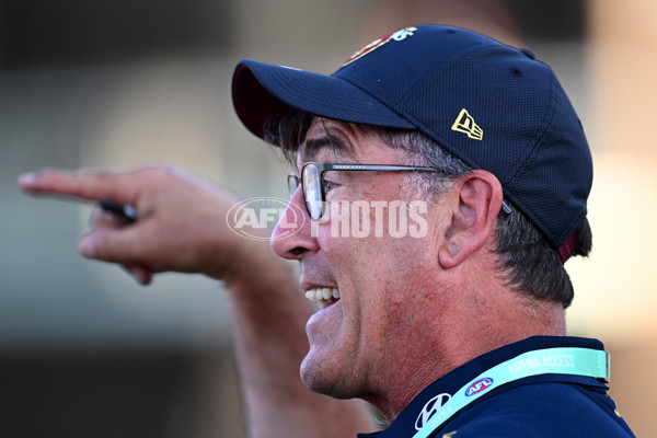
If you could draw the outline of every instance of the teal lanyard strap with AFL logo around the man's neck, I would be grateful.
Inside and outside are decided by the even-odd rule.
[[[528,351],[475,377],[445,403],[413,438],[426,438],[452,415],[505,383],[539,374],[586,376],[609,381],[609,354],[590,348]]]

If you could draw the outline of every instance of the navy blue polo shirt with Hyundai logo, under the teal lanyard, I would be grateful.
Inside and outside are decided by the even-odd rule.
[[[422,391],[385,429],[359,438],[413,437],[463,385],[514,357],[542,348],[604,349],[600,341],[534,336],[486,353]],[[580,376],[543,374],[519,379],[469,404],[431,437],[634,437],[602,382]]]

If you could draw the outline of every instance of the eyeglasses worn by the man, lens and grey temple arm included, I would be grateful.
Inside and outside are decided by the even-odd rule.
[[[324,172],[326,171],[378,171],[378,172],[403,172],[422,171],[439,172],[436,168],[418,168],[414,165],[394,164],[328,164],[310,161],[301,168],[301,176],[293,173],[288,175],[288,189],[290,198],[297,192],[299,184],[303,191],[306,210],[312,220],[320,220],[326,212],[326,194],[324,192]]]

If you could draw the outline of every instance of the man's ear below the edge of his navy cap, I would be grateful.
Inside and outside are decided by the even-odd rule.
[[[474,170],[457,180],[446,208],[451,223],[438,251],[440,265],[448,269],[480,250],[495,232],[502,208],[502,184],[491,172]]]

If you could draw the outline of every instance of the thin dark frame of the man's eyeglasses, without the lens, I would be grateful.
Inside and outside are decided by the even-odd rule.
[[[307,168],[313,168],[316,170],[318,180],[319,180],[319,205],[320,212],[319,215],[313,215],[313,205],[311,200],[309,200],[306,193],[306,178],[304,173]],[[344,164],[344,163],[320,163],[316,161],[309,161],[301,168],[301,176],[298,176],[293,173],[288,174],[288,191],[290,193],[290,198],[295,196],[297,188],[299,185],[301,186],[301,192],[303,195],[303,204],[306,205],[306,211],[308,211],[308,216],[313,221],[319,221],[322,219],[326,212],[324,208],[324,204],[326,203],[326,194],[324,193],[324,172],[326,171],[377,171],[377,172],[441,172],[440,169],[437,168],[426,168],[426,166],[416,166],[416,165],[401,165],[401,164]],[[314,200],[318,203],[318,200]],[[315,218],[316,217],[316,218]]]

